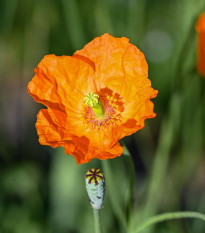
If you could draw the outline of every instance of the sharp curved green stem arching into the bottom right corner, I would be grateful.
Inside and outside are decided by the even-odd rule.
[[[180,218],[198,218],[205,221],[205,215],[198,212],[182,211],[182,212],[165,213],[165,214],[156,215],[154,217],[145,220],[142,224],[139,225],[139,227],[137,227],[137,229],[134,232],[138,233],[144,230],[145,228],[149,227],[150,225],[156,224],[158,222],[180,219]]]

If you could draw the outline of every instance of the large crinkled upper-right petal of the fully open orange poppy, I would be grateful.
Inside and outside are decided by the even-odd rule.
[[[158,91],[151,87],[147,78],[148,65],[144,54],[130,44],[127,38],[114,38],[104,34],[75,54],[88,57],[95,64],[98,89],[109,87],[120,93],[125,102],[122,129],[116,130],[118,134],[115,132],[114,137],[119,140],[129,135],[127,131],[130,131],[130,128],[123,128],[126,128],[126,122],[130,118],[135,120],[132,121],[133,133],[144,127],[145,119],[155,117],[150,99],[155,98]],[[141,111],[141,106],[146,111]]]

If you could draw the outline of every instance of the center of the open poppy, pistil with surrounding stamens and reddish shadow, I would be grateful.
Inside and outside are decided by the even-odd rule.
[[[95,93],[86,95],[82,119],[90,129],[105,129],[119,124],[123,111],[124,106],[120,95],[104,88],[99,95]]]

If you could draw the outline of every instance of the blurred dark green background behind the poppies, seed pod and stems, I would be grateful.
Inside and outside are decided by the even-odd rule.
[[[195,68],[204,10],[205,0],[0,0],[0,233],[94,232],[84,175],[96,166],[107,174],[104,232],[127,232],[125,156],[77,165],[41,146],[42,106],[27,93],[44,55],[72,55],[106,32],[140,48],[159,90],[157,117],[124,139],[135,164],[129,232],[156,213],[205,213],[205,79]],[[205,224],[175,220],[143,232],[204,233]]]

